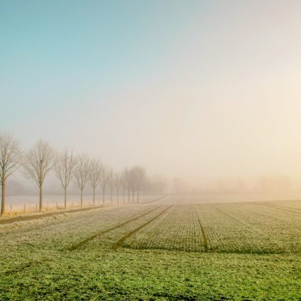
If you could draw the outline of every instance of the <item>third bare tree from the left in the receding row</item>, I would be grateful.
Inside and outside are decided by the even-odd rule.
[[[55,173],[64,189],[65,209],[67,207],[67,187],[72,180],[74,167],[75,158],[73,152],[69,151],[67,148],[55,158]]]

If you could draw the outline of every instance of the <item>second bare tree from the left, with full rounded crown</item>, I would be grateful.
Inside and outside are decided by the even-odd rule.
[[[43,207],[43,182],[53,168],[53,148],[47,141],[40,139],[28,151],[23,166],[26,175],[32,177],[40,188],[39,210],[41,211]]]

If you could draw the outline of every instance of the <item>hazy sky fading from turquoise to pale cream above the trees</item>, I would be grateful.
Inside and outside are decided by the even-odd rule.
[[[193,185],[298,181],[300,14],[290,0],[0,0],[0,128]]]

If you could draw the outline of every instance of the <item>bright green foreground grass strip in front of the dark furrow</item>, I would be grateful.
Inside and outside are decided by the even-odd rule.
[[[48,252],[1,277],[1,300],[299,300],[300,258],[173,251]]]

